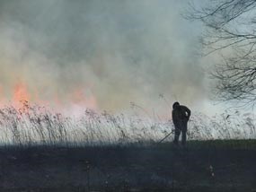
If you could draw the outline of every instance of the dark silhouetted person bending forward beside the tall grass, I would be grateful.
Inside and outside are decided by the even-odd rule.
[[[179,102],[174,102],[172,105],[172,122],[175,127],[173,144],[179,144],[181,136],[181,144],[186,144],[188,121],[190,120],[191,111],[186,106],[180,105]]]

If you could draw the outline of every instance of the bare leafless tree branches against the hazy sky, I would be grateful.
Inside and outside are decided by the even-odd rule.
[[[216,79],[219,100],[246,104],[256,101],[256,0],[191,2],[190,20],[206,26],[202,44],[206,55],[221,52],[223,62],[210,73]]]

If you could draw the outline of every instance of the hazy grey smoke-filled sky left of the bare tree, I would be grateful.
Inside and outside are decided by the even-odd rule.
[[[1,0],[0,96],[119,111],[207,100],[200,25],[174,0]],[[84,100],[84,101],[83,101]]]

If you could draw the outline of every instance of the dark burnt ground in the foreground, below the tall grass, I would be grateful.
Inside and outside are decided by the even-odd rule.
[[[256,142],[5,146],[0,191],[256,191]]]

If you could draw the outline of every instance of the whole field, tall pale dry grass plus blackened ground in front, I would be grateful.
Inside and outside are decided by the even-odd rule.
[[[0,109],[0,191],[256,191],[251,114],[193,113],[184,148],[171,120],[23,104]]]

